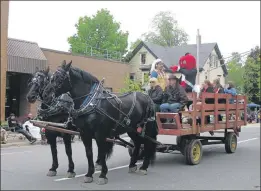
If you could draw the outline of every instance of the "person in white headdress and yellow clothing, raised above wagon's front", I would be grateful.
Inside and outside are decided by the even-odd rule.
[[[156,59],[151,65],[150,77],[157,78],[159,86],[164,90],[167,86],[167,74],[164,72],[164,63]]]

